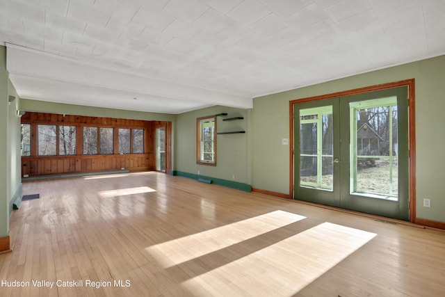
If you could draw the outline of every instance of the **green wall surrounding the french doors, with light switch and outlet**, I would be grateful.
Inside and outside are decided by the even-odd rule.
[[[415,79],[416,216],[445,222],[445,56],[254,98],[252,186],[289,193],[289,101],[380,83]],[[430,198],[431,208],[423,207]]]

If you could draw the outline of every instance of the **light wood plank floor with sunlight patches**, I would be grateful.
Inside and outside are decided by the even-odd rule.
[[[40,199],[13,212],[13,252],[0,255],[0,281],[29,286],[3,285],[0,296],[445,292],[441,230],[156,172],[24,183],[33,193]],[[34,287],[37,280],[59,286]]]

